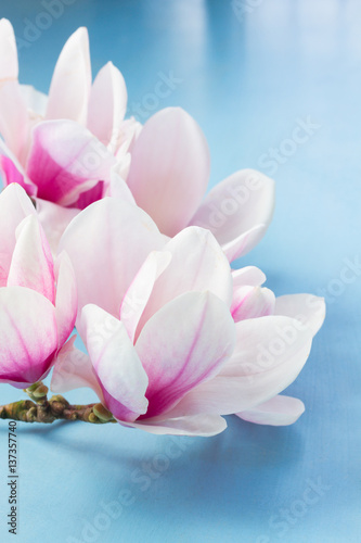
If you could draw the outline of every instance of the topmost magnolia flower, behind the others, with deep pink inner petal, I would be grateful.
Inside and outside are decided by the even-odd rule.
[[[180,108],[156,113],[143,129],[125,121],[120,72],[108,63],[91,85],[86,28],[65,43],[49,98],[18,84],[7,20],[0,22],[0,167],[5,184],[18,182],[37,198],[53,248],[79,210],[107,194],[134,199],[168,237],[191,225],[209,229],[230,261],[262,238],[273,213],[273,181],[240,171],[204,199],[209,151],[199,126]]]

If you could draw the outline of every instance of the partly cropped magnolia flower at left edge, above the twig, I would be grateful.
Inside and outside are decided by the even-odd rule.
[[[53,263],[34,205],[18,185],[0,195],[0,382],[44,378],[74,328],[75,277],[65,253]]]

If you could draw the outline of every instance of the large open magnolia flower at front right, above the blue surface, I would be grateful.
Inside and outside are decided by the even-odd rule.
[[[209,230],[168,240],[141,209],[104,199],[60,243],[73,262],[77,328],[60,352],[55,392],[90,387],[124,426],[212,435],[238,414],[287,425],[304,412],[278,395],[306,363],[324,318],[322,299],[275,299],[255,267],[231,272]]]

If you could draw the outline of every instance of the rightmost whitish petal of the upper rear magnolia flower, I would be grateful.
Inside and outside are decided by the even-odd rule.
[[[190,224],[208,228],[232,261],[260,241],[273,207],[273,180],[260,172],[242,169],[209,192]]]

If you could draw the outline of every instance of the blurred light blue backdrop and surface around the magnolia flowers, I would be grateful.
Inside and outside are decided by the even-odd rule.
[[[123,72],[128,115],[144,123],[180,105],[195,117],[210,148],[209,187],[244,167],[273,177],[273,223],[236,266],[261,267],[279,295],[312,292],[327,303],[287,391],[306,404],[293,427],[228,417],[224,433],[204,440],[20,425],[17,541],[31,532],[54,543],[359,543],[361,2],[0,0],[0,8],[15,28],[21,83],[47,92],[64,42],[87,26],[93,75],[108,60]],[[4,386],[0,394],[1,403],[18,395]],[[0,464],[7,431],[0,425]],[[2,481],[1,541],[7,507]]]

